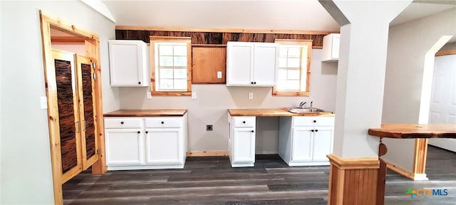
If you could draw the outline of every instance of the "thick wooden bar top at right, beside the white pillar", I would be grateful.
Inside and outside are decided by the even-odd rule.
[[[369,135],[387,138],[456,138],[456,124],[384,124]]]

